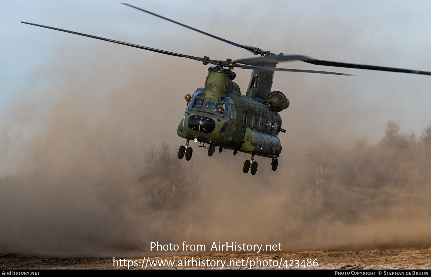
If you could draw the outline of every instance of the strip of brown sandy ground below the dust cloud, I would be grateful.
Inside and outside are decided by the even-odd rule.
[[[117,261],[119,259],[116,258]],[[260,262],[256,264],[256,260]],[[167,265],[168,261],[171,265]],[[311,265],[313,261],[314,266]],[[260,264],[262,262],[263,264]],[[163,263],[165,263],[164,266],[161,265]],[[310,266],[307,266],[307,263]],[[117,264],[119,265],[120,262],[116,262]],[[131,264],[130,269],[431,269],[431,247],[398,250],[322,250],[276,254],[208,253],[203,255],[198,253],[149,259],[126,258],[126,262],[122,259],[122,266],[113,266],[112,258],[41,258],[18,254],[0,255],[0,269],[127,269],[128,264]]]

